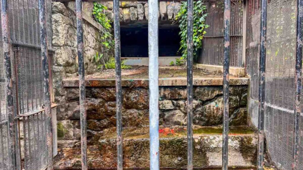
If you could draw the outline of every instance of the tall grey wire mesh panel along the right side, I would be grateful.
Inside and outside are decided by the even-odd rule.
[[[292,168],[295,101],[296,0],[271,0],[267,12],[265,78],[266,152],[280,169]],[[251,78],[248,119],[258,127],[258,64],[260,41],[259,1],[250,1],[247,25],[247,73]],[[301,102],[301,105],[303,102]],[[301,127],[302,122],[301,122]],[[301,131],[301,135],[302,131]],[[300,139],[303,144],[302,138]],[[300,153],[303,152],[301,147]],[[300,156],[299,162],[303,162]],[[299,169],[303,169],[299,166]]]

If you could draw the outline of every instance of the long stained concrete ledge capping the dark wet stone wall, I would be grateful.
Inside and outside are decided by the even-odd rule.
[[[180,78],[161,78],[159,86],[186,86],[186,77]],[[194,78],[194,86],[222,86],[223,78]],[[230,78],[230,85],[248,85],[248,78]],[[78,87],[79,80],[65,79],[64,87]],[[114,79],[88,79],[85,80],[86,87],[115,87]],[[123,87],[148,87],[148,79],[127,79],[122,80]]]

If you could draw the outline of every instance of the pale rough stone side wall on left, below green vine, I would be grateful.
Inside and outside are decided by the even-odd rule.
[[[88,19],[91,19],[88,17]],[[94,22],[94,21],[93,21]],[[83,19],[84,31],[84,58],[85,74],[93,74],[96,71],[94,55],[102,51],[101,26],[96,22]],[[97,24],[98,27],[93,26]],[[78,75],[77,55],[77,28],[75,12],[67,8],[61,2],[52,3],[52,29],[53,29],[53,84],[55,103],[61,104],[64,96],[62,79]],[[111,51],[112,52],[112,51]],[[110,53],[111,53],[110,52]],[[106,61],[106,58],[105,58]],[[63,101],[64,102],[64,101]],[[60,113],[60,110],[58,110]]]

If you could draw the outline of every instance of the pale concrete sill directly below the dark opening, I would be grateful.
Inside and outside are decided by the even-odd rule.
[[[159,66],[169,66],[169,63],[171,61],[175,63],[177,58],[180,58],[180,56],[159,57]],[[122,57],[121,60],[124,60],[126,65],[148,66],[148,57]]]

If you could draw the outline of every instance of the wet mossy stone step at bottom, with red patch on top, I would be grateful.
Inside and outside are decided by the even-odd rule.
[[[222,128],[194,126],[194,167],[222,164]],[[187,166],[187,138],[184,126],[160,126],[160,167]],[[89,168],[115,168],[116,129],[106,129],[97,145],[88,146]],[[149,167],[149,127],[123,129],[123,163],[125,168]],[[228,165],[254,167],[257,134],[247,126],[230,127]],[[81,168],[80,147],[61,148],[55,168]]]

